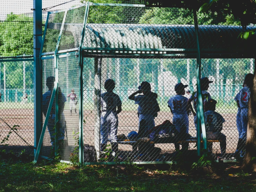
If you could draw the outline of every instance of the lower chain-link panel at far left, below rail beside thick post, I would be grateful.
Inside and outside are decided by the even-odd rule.
[[[29,59],[0,61],[0,141],[8,138],[1,143],[1,149],[13,151],[33,149],[33,73],[33,61]],[[15,125],[18,126],[14,127]]]

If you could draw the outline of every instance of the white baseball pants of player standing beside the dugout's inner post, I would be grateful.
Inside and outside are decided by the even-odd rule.
[[[107,111],[101,113],[101,143],[117,142],[118,116],[116,112]]]

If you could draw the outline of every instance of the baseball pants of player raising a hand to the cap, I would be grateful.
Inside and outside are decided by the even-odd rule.
[[[139,114],[139,137],[148,137],[148,133],[155,126],[154,119],[151,114]]]

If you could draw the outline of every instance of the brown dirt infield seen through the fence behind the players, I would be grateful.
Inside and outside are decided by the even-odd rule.
[[[67,122],[67,133],[70,140],[73,139],[74,132],[78,130],[79,127],[79,115],[70,115],[69,110],[64,111],[66,122]],[[227,136],[227,152],[234,152],[238,140],[238,131],[236,128],[236,114],[222,114],[225,123],[223,126],[223,133]],[[34,110],[31,109],[4,109],[0,110],[0,116],[3,118],[11,127],[13,125],[19,125],[17,127],[17,133],[27,142],[29,145],[34,145]],[[119,126],[118,134],[127,134],[130,131],[138,131],[138,116],[137,111],[122,111],[119,115]],[[84,111],[84,143],[89,145],[94,145],[94,123],[95,116],[92,111]],[[155,124],[159,125],[164,120],[172,121],[172,114],[170,112],[159,112],[158,116],[155,118]],[[6,137],[9,127],[0,120],[0,139],[2,140]],[[47,129],[46,129],[47,131]],[[192,115],[189,116],[189,134],[191,136],[196,136],[196,129],[194,125],[194,118]],[[47,142],[46,142],[47,143]],[[49,143],[49,139],[48,139]],[[73,142],[72,142],[73,143]],[[10,146],[26,146],[27,144],[20,139],[17,134],[12,133],[10,135],[9,141],[6,142]],[[49,143],[50,145],[50,143]],[[162,148],[162,151],[173,151],[173,144],[157,144],[157,147]],[[119,145],[120,150],[131,150],[129,145]],[[190,144],[190,149],[196,149],[195,143]],[[214,143],[214,152],[220,152],[219,143]]]

